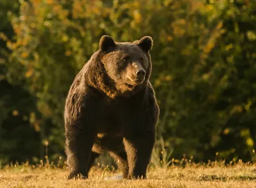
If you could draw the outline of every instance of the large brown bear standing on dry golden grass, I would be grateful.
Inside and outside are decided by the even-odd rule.
[[[68,179],[87,178],[107,150],[124,178],[146,178],[159,116],[149,82],[152,38],[115,43],[102,36],[99,50],[77,74],[65,104]]]

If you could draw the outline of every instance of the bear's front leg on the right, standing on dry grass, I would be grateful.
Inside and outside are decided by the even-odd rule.
[[[129,179],[147,178],[147,166],[150,163],[155,141],[155,133],[136,133],[125,136],[124,145],[129,164]]]

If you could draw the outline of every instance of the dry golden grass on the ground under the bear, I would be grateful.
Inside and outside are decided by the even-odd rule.
[[[93,167],[88,180],[66,180],[66,168],[7,166],[0,170],[0,187],[256,187],[256,164],[150,168],[147,180],[104,180],[117,174]]]

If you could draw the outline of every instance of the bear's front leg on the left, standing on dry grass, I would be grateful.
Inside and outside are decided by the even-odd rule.
[[[95,134],[86,133],[76,127],[66,131],[66,154],[70,178],[88,178],[90,161]]]

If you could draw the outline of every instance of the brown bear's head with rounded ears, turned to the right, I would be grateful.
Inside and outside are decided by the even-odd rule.
[[[149,51],[153,45],[150,36],[133,43],[115,43],[110,36],[102,36],[99,47],[101,62],[108,76],[115,82],[116,89],[133,90],[146,83],[151,72]]]

